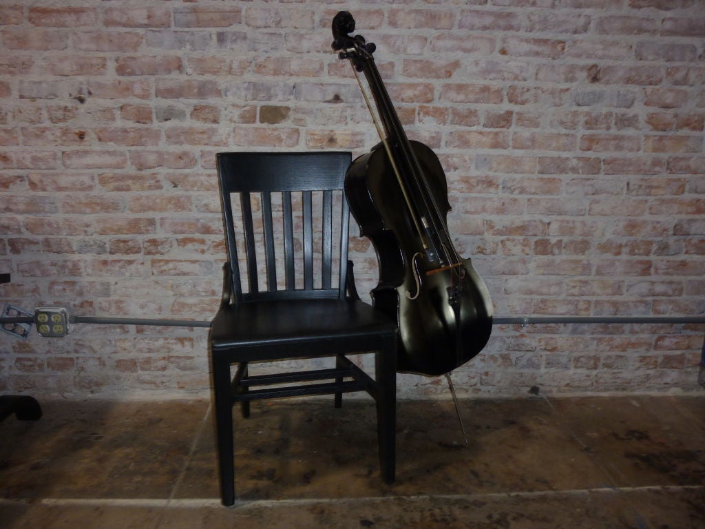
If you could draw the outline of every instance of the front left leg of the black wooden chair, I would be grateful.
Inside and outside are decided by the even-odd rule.
[[[233,394],[230,363],[213,360],[216,442],[220,470],[221,502],[235,503],[235,456],[233,446]]]

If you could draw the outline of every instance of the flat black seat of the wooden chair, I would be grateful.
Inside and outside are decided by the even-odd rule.
[[[374,334],[388,336],[395,332],[395,322],[360,300],[260,300],[220,310],[212,322],[211,343],[216,352],[248,346],[295,346],[305,342],[305,353],[309,355],[318,354],[311,350],[312,341],[348,338],[350,350],[340,351],[343,353],[353,351],[357,338],[369,341]],[[278,351],[276,355],[281,353]],[[321,349],[320,354],[331,354],[331,351]],[[258,358],[262,358],[261,354]]]

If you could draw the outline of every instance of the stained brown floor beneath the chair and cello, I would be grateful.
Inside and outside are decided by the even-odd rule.
[[[257,403],[238,501],[207,401],[42,402],[0,423],[1,528],[705,528],[705,395],[398,405],[384,485],[374,403]]]

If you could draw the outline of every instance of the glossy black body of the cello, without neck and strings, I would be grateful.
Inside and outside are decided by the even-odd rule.
[[[447,214],[446,177],[439,159],[426,145],[411,145],[425,174],[433,178],[436,200]],[[470,259],[431,274],[427,272],[433,268],[422,258],[414,262],[417,237],[402,214],[404,198],[392,171],[384,149],[362,155],[348,169],[345,196],[360,235],[372,241],[377,253],[379,283],[370,293],[374,306],[398,322],[397,370],[443,375],[477,355],[489,340],[489,293]],[[410,299],[407,293],[413,295],[417,288],[419,295]],[[449,303],[453,292],[459,297],[457,310]]]

